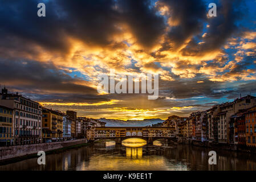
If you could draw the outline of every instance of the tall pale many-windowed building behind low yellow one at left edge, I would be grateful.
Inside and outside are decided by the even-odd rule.
[[[38,102],[2,89],[0,105],[14,109],[13,144],[41,143],[42,107]]]

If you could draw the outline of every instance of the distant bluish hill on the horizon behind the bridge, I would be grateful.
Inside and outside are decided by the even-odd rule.
[[[105,119],[100,118],[100,121],[106,123],[105,126],[149,126],[155,125],[156,123],[163,122],[164,120],[159,118],[154,119],[144,119],[144,120],[121,120],[121,119]]]

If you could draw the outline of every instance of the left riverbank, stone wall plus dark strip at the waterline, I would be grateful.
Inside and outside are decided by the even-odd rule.
[[[70,140],[64,142],[39,143],[25,146],[0,147],[0,165],[19,162],[25,159],[38,158],[38,151],[49,154],[58,154],[73,148],[88,146],[86,139]]]

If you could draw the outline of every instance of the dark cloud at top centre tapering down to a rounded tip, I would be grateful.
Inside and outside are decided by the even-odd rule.
[[[139,43],[150,47],[164,33],[164,18],[156,15],[157,10],[151,1],[120,0],[117,5],[121,20],[129,25]]]

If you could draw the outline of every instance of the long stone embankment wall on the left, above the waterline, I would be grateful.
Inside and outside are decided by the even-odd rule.
[[[87,139],[68,140],[52,143],[27,144],[23,146],[0,147],[0,161],[17,158],[29,154],[37,154],[38,151],[46,152],[82,143],[87,143]]]

